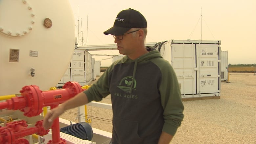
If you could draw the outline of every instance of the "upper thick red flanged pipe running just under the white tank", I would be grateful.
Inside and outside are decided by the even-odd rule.
[[[82,92],[77,82],[67,82],[63,89],[41,91],[36,85],[24,86],[20,90],[21,96],[12,97],[0,103],[0,109],[21,110],[25,116],[37,116],[45,106],[58,106],[64,101]]]

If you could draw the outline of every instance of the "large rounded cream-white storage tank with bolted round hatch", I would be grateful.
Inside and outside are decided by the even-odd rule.
[[[69,0],[0,0],[0,96],[49,90],[69,66],[75,20]]]

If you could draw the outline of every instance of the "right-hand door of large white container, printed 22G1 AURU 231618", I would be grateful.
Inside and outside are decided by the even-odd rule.
[[[196,44],[197,94],[220,92],[220,47],[218,44]]]

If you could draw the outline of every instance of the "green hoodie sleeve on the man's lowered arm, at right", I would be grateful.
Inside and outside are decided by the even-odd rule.
[[[168,61],[161,61],[158,66],[162,73],[159,86],[161,103],[164,109],[164,132],[174,136],[184,118],[184,106],[181,100],[181,90],[176,74]]]

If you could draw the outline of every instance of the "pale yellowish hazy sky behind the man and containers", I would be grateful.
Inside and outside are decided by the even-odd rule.
[[[228,63],[256,63],[256,0],[70,0],[70,3],[77,34],[79,23],[80,45],[114,44],[114,38],[103,32],[113,26],[121,10],[132,8],[147,19],[146,42],[201,40],[202,36],[202,40],[221,40],[221,50],[228,51]],[[116,55],[118,51],[90,53]],[[109,61],[101,63],[106,66]]]

